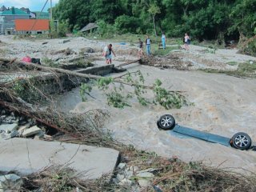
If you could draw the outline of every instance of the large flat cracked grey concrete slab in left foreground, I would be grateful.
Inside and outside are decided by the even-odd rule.
[[[82,179],[112,173],[119,152],[108,148],[26,138],[0,141],[0,171],[16,170],[26,175],[50,165],[68,166]]]

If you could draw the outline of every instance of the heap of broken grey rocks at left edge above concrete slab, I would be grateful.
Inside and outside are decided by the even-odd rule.
[[[14,137],[20,138],[48,138],[44,127],[36,126],[33,118],[15,115],[14,112],[9,113],[6,110],[0,110],[0,140]]]

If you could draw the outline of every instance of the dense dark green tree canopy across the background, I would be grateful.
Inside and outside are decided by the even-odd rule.
[[[251,37],[256,0],[60,0],[54,18],[70,30],[105,22],[118,33],[160,34],[198,39]]]

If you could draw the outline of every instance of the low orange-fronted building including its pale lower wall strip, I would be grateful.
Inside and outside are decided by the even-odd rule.
[[[49,19],[15,19],[16,34],[49,34]]]

